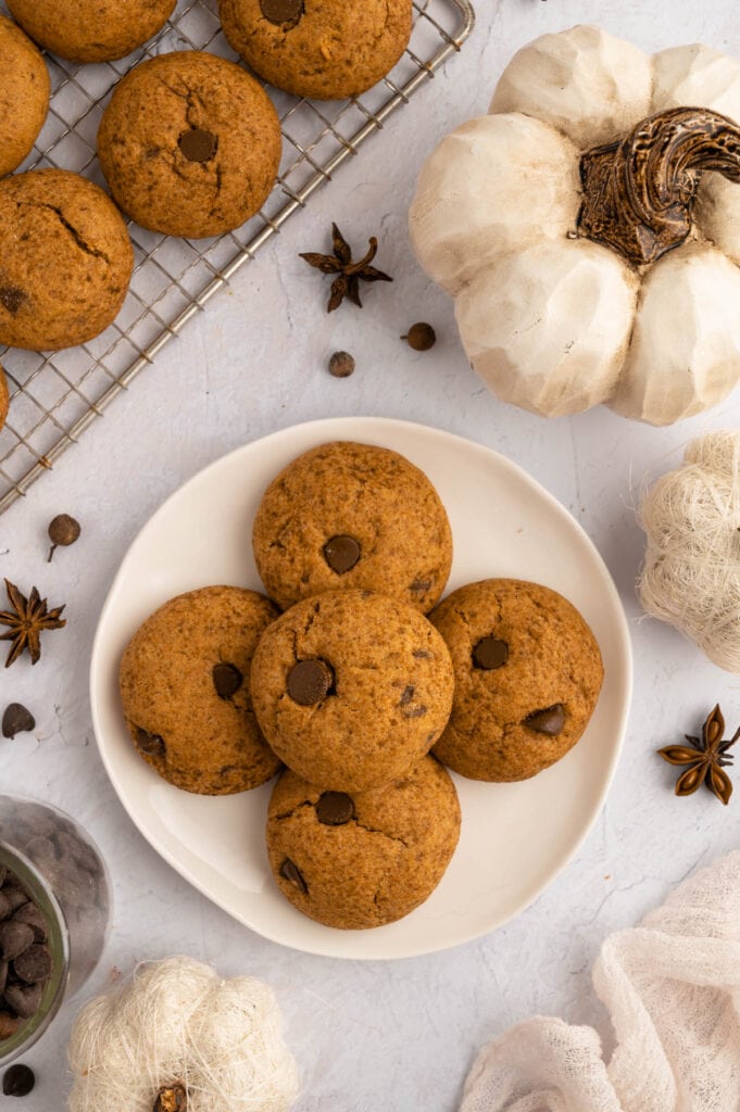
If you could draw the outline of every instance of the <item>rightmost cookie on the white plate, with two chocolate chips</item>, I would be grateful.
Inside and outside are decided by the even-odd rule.
[[[455,672],[452,715],[434,754],[472,780],[514,781],[560,761],[601,689],[596,641],[555,590],[520,579],[460,587],[430,615]]]

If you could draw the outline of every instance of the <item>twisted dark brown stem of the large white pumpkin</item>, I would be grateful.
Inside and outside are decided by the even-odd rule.
[[[654,262],[691,231],[704,170],[740,181],[740,128],[707,108],[649,116],[621,141],[581,156],[580,236],[629,262]]]

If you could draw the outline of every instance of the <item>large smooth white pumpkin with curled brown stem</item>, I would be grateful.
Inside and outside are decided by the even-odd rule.
[[[575,27],[520,50],[490,113],[442,140],[418,178],[412,244],[499,397],[549,417],[605,403],[668,425],[728,395],[740,378],[734,120],[740,62],[703,46],[650,57]],[[606,145],[590,156],[606,167],[604,195],[582,157]],[[614,196],[631,200],[629,240],[610,238]]]

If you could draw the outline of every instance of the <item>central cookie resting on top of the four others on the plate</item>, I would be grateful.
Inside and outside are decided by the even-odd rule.
[[[277,755],[341,792],[404,776],[440,737],[452,687],[436,629],[406,603],[366,590],[286,610],[251,664],[255,714]]]

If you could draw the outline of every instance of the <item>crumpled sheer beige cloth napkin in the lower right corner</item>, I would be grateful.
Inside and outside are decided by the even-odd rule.
[[[460,1112],[740,1112],[740,852],[610,935],[593,983],[609,1064],[591,1027],[536,1016],[478,1055]]]

